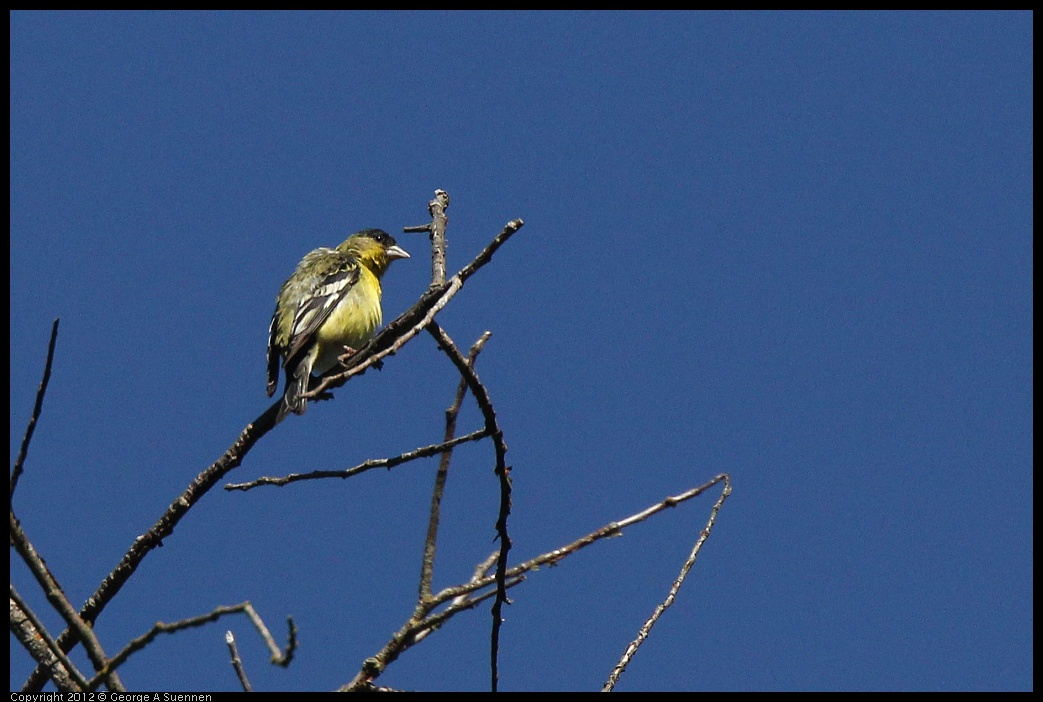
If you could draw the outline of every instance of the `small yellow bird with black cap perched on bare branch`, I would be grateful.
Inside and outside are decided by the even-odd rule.
[[[383,229],[362,229],[337,248],[308,252],[275,296],[268,329],[268,396],[286,389],[275,423],[304,414],[311,376],[336,367],[372,338],[383,321],[381,279],[406,249]]]

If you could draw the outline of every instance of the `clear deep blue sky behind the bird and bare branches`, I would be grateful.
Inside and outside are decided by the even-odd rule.
[[[526,221],[438,317],[493,334],[515,562],[732,476],[618,689],[1032,688],[1029,14],[10,20],[13,461],[62,318],[15,509],[74,604],[268,407],[300,257],[391,232],[391,319],[441,188],[451,271]],[[225,482],[434,443],[457,382],[420,336]],[[492,465],[456,454],[436,587],[495,547]],[[237,689],[229,628],[256,688],[350,680],[412,610],[435,466],[211,491],[99,619],[106,651],[250,600],[278,636],[294,616],[297,659],[223,620],[128,688]],[[501,688],[599,688],[714,499],[515,588]],[[380,682],[484,689],[488,632],[465,613]],[[29,670],[13,640],[13,688]]]

